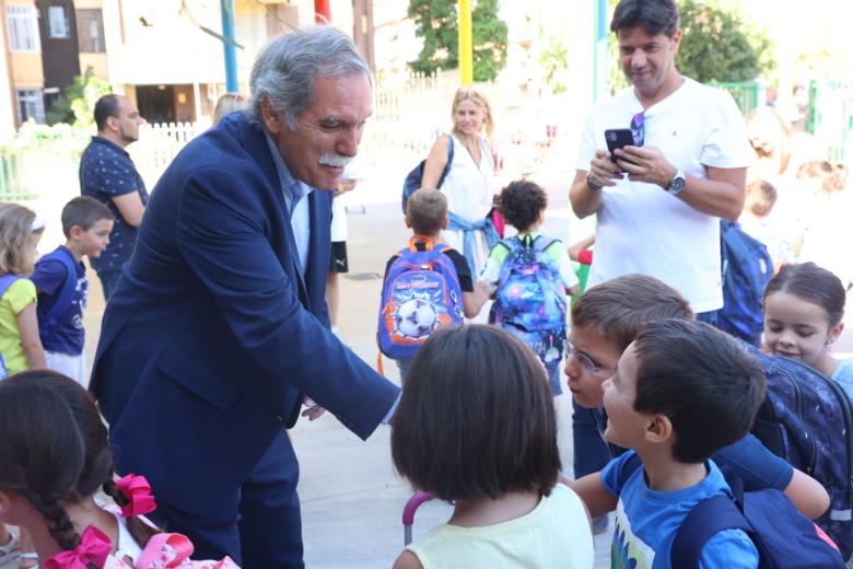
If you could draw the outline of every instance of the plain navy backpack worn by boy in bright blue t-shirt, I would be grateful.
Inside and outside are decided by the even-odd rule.
[[[638,455],[626,461],[622,483],[641,465]],[[741,530],[758,550],[759,569],[844,568],[839,551],[784,493],[774,489],[745,492],[740,478],[726,468],[721,472],[733,497],[712,496],[690,510],[673,539],[673,567],[699,569],[702,548],[711,537],[724,530]]]

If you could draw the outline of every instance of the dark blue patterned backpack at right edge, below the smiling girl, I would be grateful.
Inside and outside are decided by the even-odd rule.
[[[767,376],[752,434],[823,485],[829,510],[816,522],[846,559],[853,553],[853,406],[840,385],[809,365],[748,349]]]

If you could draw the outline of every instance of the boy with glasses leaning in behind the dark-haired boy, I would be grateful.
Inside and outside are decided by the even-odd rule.
[[[668,318],[693,320],[693,313],[677,291],[643,275],[626,275],[593,287],[572,306],[571,347],[565,359],[569,390],[592,414],[600,433],[607,428],[604,383],[614,375],[619,358],[640,330]],[[612,442],[608,450],[611,456],[624,452]],[[829,496],[817,480],[771,453],[752,434],[716,451],[712,458],[741,478],[746,490],[782,490],[810,519],[829,507]],[[616,508],[616,498],[604,490],[600,473],[580,478],[574,488],[594,515]]]

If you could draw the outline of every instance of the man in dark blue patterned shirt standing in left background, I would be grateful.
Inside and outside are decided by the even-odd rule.
[[[105,204],[116,217],[109,245],[92,259],[104,289],[109,294],[130,260],[137,228],[145,212],[148,191],[142,176],[125,148],[139,140],[139,125],[145,119],[126,96],[104,95],[95,104],[97,136],[92,137],[80,160],[80,191]]]

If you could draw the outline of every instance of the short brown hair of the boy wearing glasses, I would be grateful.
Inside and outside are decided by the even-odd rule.
[[[624,275],[587,289],[572,304],[572,325],[588,327],[624,351],[650,322],[693,320],[677,290],[646,275]]]

